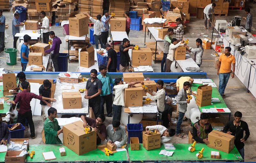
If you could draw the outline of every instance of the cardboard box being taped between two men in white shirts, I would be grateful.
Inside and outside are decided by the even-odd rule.
[[[142,106],[143,88],[141,84],[124,89],[124,107]]]

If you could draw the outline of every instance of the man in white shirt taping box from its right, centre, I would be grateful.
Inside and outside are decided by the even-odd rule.
[[[146,95],[151,100],[156,101],[156,106],[158,112],[162,113],[164,111],[164,101],[165,101],[165,90],[164,90],[164,81],[158,80],[156,81],[156,88],[158,89],[157,92],[155,92],[153,89],[144,89]],[[152,95],[150,95],[148,92],[151,92]]]

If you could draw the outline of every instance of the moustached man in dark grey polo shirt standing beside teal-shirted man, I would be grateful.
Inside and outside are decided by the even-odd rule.
[[[95,117],[100,113],[100,94],[102,89],[102,82],[97,78],[97,70],[92,69],[91,78],[86,82],[86,90],[84,98],[89,100],[89,106],[92,107]]]

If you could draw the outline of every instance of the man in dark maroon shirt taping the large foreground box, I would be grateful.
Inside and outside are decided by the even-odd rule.
[[[86,127],[87,125],[91,126],[94,128],[94,130],[97,132],[97,144],[101,143],[101,140],[104,141],[106,139],[107,136],[107,129],[105,124],[103,124],[103,122],[105,121],[105,116],[104,114],[100,114],[96,120],[86,117],[86,116],[81,116],[81,119],[84,122],[84,127]]]

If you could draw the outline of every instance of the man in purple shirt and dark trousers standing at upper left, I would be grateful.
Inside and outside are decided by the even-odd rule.
[[[45,50],[44,54],[51,52],[54,70],[55,72],[58,72],[59,71],[58,58],[60,53],[60,44],[62,42],[59,37],[55,36],[55,33],[53,31],[49,32],[49,36],[52,39],[52,47],[48,50]]]

